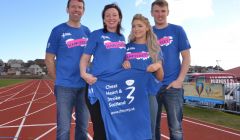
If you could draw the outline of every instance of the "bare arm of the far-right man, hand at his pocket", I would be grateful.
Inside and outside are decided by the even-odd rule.
[[[173,81],[168,88],[174,87],[174,88],[182,88],[184,78],[188,72],[190,62],[191,62],[191,57],[190,57],[190,50],[184,50],[181,52],[182,56],[182,65],[181,65],[181,70],[178,75],[177,80]]]

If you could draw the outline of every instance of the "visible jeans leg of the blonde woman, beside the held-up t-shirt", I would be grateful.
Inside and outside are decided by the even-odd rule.
[[[156,127],[158,103],[156,100],[156,96],[153,96],[153,95],[149,95],[148,100],[149,100],[149,107],[150,107],[152,140],[155,140],[155,127]]]

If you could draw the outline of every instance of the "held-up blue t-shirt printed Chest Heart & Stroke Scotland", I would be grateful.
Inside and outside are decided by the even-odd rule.
[[[101,75],[89,86],[91,103],[99,100],[108,140],[150,140],[147,84],[152,74],[136,69]],[[156,93],[156,92],[155,92]]]

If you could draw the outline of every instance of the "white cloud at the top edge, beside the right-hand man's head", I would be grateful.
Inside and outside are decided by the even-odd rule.
[[[205,18],[214,15],[213,0],[168,0],[168,2],[169,21],[174,23],[181,23],[190,18]]]

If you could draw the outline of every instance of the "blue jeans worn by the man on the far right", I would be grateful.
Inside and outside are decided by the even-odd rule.
[[[161,139],[161,113],[162,105],[164,105],[167,113],[168,127],[170,132],[170,140],[182,140],[182,119],[183,119],[183,88],[170,88],[163,86],[158,91],[158,113],[156,123],[156,140]]]

